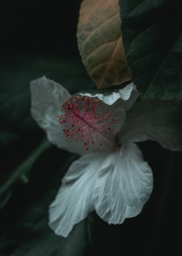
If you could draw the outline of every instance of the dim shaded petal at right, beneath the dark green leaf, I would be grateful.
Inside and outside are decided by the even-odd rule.
[[[182,101],[137,101],[129,110],[120,142],[155,140],[168,150],[182,150]]]

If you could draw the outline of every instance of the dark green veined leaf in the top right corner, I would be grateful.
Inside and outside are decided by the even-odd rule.
[[[125,58],[142,98],[181,97],[181,1],[119,3]]]

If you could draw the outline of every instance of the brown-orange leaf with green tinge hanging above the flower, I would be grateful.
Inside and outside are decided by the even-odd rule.
[[[79,51],[98,88],[130,79],[123,54],[118,0],[83,0],[77,27]]]

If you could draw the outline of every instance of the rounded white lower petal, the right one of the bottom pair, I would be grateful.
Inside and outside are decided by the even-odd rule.
[[[108,223],[122,223],[138,215],[153,187],[151,168],[136,144],[125,144],[110,153],[99,168],[94,190],[98,215]]]

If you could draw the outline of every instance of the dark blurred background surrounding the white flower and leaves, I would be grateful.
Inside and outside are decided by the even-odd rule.
[[[80,2],[1,4],[1,186],[45,136],[30,116],[29,82],[45,74],[71,92],[94,86],[77,50]],[[93,213],[68,238],[55,236],[47,227],[47,209],[77,156],[51,146],[32,166],[29,182],[17,178],[6,191],[10,199],[0,212],[0,255],[180,255],[181,152],[155,142],[138,145],[154,176],[153,193],[139,216],[114,226]]]

